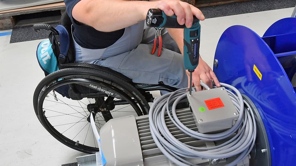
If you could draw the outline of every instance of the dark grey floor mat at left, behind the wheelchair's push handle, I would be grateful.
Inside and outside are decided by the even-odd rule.
[[[57,23],[52,23],[51,25],[56,27]],[[14,28],[12,29],[10,43],[46,39],[48,38],[49,33],[49,31],[45,30],[35,32],[33,26]]]

